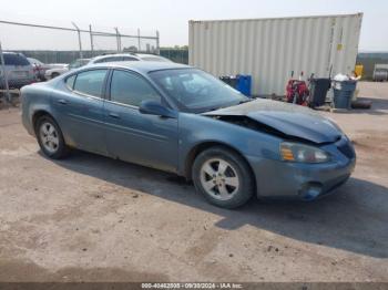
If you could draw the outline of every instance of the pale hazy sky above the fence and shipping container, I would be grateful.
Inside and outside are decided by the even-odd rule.
[[[146,34],[157,29],[161,45],[188,42],[188,20],[276,18],[364,12],[360,51],[388,51],[388,1],[386,0],[12,0],[0,8],[1,20],[29,21],[59,25],[90,23],[99,29],[121,28]],[[4,31],[9,30],[9,31]],[[0,40],[9,46],[21,45],[19,38],[7,37],[9,27],[0,27]],[[14,33],[13,33],[14,34]],[[30,37],[30,33],[25,38]],[[39,39],[39,38],[38,38]],[[41,40],[31,40],[29,42]],[[49,41],[48,41],[49,42]],[[40,43],[33,43],[39,46]],[[58,43],[57,43],[58,44]],[[6,45],[7,46],[7,45]]]

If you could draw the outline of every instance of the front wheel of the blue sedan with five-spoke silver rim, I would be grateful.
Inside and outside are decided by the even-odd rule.
[[[255,184],[248,164],[222,146],[200,153],[192,174],[195,188],[215,206],[236,208],[253,196]]]

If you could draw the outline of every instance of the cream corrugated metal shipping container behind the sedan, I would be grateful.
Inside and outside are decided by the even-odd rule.
[[[190,21],[188,63],[213,75],[252,74],[253,93],[284,94],[290,71],[326,77],[356,64],[363,14]]]

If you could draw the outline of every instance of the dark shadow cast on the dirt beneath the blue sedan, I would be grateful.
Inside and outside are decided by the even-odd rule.
[[[184,179],[163,172],[83,152],[55,163],[111,184],[216,214],[223,217],[216,227],[235,230],[251,225],[292,239],[388,258],[388,188],[367,180],[350,178],[334,195],[312,203],[253,199],[242,208],[226,210],[207,204]]]

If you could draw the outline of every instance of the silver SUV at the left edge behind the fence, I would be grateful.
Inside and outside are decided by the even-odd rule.
[[[33,66],[22,53],[3,52],[4,70],[10,89],[20,89],[37,81]],[[4,75],[0,70],[0,87],[4,87]]]

